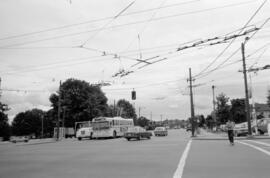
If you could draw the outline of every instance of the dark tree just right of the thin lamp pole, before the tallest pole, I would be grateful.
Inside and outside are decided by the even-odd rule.
[[[225,124],[230,118],[229,97],[224,93],[217,96],[217,124]]]

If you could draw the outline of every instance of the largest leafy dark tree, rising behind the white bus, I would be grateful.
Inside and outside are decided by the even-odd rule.
[[[74,127],[77,121],[89,121],[94,117],[105,116],[108,112],[108,99],[99,86],[77,79],[68,79],[61,85],[60,94],[61,118],[65,111],[65,127]],[[50,96],[55,120],[58,100],[59,92]]]

